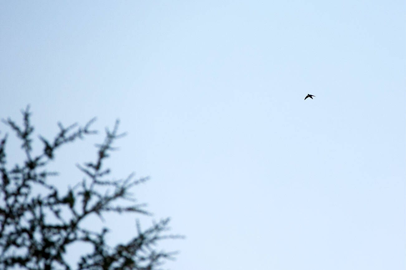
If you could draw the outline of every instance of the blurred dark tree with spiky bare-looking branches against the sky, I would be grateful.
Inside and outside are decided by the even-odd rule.
[[[97,147],[95,162],[78,168],[86,178],[69,188],[64,194],[48,181],[55,172],[47,165],[60,147],[95,134],[90,130],[92,119],[84,127],[76,124],[64,127],[58,123],[59,133],[54,140],[39,136],[43,151],[32,153],[33,126],[29,107],[22,111],[24,124],[18,126],[11,119],[3,120],[22,141],[25,160],[12,168],[6,166],[7,134],[0,141],[0,269],[158,269],[174,252],[157,251],[155,244],[162,239],[181,236],[166,235],[169,219],[154,223],[141,230],[136,223],[137,235],[129,242],[110,247],[105,240],[108,228],[95,232],[82,225],[91,214],[102,219],[103,213],[148,214],[145,205],[134,204],[129,193],[134,185],[146,178],[132,180],[132,175],[120,181],[106,180],[110,169],[103,162],[113,150],[112,143],[123,136],[118,134],[117,121],[112,131],[106,129],[106,138]],[[40,190],[41,192],[37,192]],[[122,199],[132,201],[130,205]],[[121,202],[121,204],[118,204]],[[84,242],[93,246],[93,252],[81,255],[75,266],[66,260],[69,244]]]

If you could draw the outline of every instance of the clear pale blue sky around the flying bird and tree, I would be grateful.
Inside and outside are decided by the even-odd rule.
[[[180,251],[165,268],[405,269],[405,10],[1,1],[0,118],[21,123],[30,104],[47,138],[58,121],[97,117],[103,132],[120,119],[112,176],[150,176],[138,202],[186,236],[162,244]],[[82,180],[75,164],[94,160],[102,132],[56,155],[61,189]],[[150,220],[102,225],[127,241],[136,218]]]

